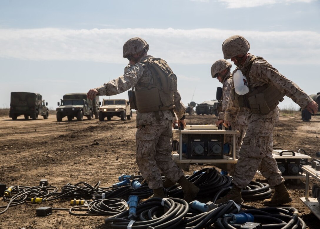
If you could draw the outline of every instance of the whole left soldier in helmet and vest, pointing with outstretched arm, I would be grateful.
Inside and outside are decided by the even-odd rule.
[[[111,96],[135,88],[130,106],[137,110],[136,161],[140,173],[153,190],[153,197],[165,197],[162,173],[181,185],[184,199],[190,202],[199,188],[187,180],[171,155],[172,123],[186,125],[186,107],[181,102],[175,74],[164,60],[147,55],[148,50],[149,45],[142,38],[125,42],[123,57],[129,60],[129,66],[124,75],[90,89],[87,96],[93,99],[96,95]]]

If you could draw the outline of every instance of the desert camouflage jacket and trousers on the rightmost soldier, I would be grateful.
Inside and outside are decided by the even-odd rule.
[[[254,55],[249,54],[245,63],[240,65],[238,69],[246,72],[250,60],[254,57]],[[312,101],[294,82],[281,75],[266,60],[254,60],[248,74],[250,91],[264,84],[269,84],[291,98],[302,108]],[[228,110],[234,106],[233,102],[235,101],[230,100],[226,110],[227,121],[231,121]],[[284,181],[277,167],[276,159],[272,156],[272,132],[278,120],[278,107],[266,115],[250,113],[247,130],[240,147],[240,158],[236,164],[236,171],[233,176],[233,183],[237,187],[244,188],[247,186],[252,181],[257,170],[260,170],[261,174],[268,179],[271,186],[279,185]]]

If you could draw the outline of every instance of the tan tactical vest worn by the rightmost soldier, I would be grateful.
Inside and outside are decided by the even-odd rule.
[[[248,80],[248,84],[250,82],[249,72],[252,63],[253,61],[258,59],[264,60],[259,56],[253,57],[246,69],[242,71],[242,73]],[[235,93],[236,102],[238,103],[239,107],[248,107],[252,111],[252,113],[260,115],[266,115],[270,111],[274,110],[279,104],[279,101],[283,101],[283,97],[284,94],[267,83],[253,89],[250,89],[249,87],[249,93],[245,95],[238,95]]]

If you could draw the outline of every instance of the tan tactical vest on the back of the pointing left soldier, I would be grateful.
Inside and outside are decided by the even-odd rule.
[[[146,63],[146,67],[135,87],[128,92],[130,107],[141,113],[172,109],[174,92],[177,90],[177,76],[160,58],[151,57],[141,63]],[[153,82],[140,82],[146,77],[147,72],[151,72],[150,79],[153,79]],[[137,86],[139,90],[136,89]]]

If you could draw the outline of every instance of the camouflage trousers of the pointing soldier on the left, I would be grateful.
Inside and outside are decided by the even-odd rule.
[[[137,127],[137,164],[149,188],[163,187],[161,174],[177,182],[183,176],[182,170],[172,159],[172,120]]]

